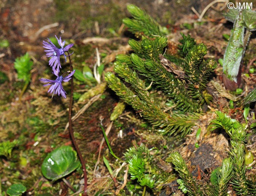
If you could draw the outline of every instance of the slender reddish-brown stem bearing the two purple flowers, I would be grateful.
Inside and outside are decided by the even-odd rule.
[[[69,53],[68,53],[69,55]],[[73,67],[71,64],[71,59],[70,56],[68,56],[69,58],[69,64],[70,64],[70,71],[73,71]],[[72,104],[73,104],[73,91],[74,91],[74,85],[73,85],[73,77],[71,78],[71,95],[70,95],[70,101],[69,101],[69,110],[68,110],[68,122],[69,122],[69,134],[72,140],[72,143],[75,146],[76,152],[78,153],[78,157],[81,161],[82,164],[82,169],[83,169],[83,174],[84,174],[84,193],[83,196],[87,196],[87,171],[86,171],[86,167],[85,167],[85,161],[83,159],[83,156],[80,152],[80,149],[75,141],[75,137],[74,137],[74,130],[72,128],[72,120],[71,120],[71,112],[72,112]]]

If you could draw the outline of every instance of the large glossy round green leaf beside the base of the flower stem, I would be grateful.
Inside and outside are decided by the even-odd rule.
[[[55,181],[73,172],[79,165],[76,151],[71,146],[61,146],[45,157],[41,169],[44,177]]]

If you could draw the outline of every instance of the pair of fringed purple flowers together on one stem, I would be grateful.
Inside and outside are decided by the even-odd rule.
[[[67,74],[68,72],[65,72],[63,75],[59,76],[60,73],[60,69],[61,69],[61,64],[60,64],[60,56],[64,55],[65,56],[65,62],[67,60],[67,56],[70,56],[73,54],[73,52],[69,55],[66,55],[65,52],[68,52],[69,48],[71,48],[74,44],[68,44],[67,46],[64,47],[65,45],[65,41],[62,42],[61,41],[61,37],[60,39],[57,38],[57,36],[55,35],[56,39],[58,40],[58,43],[60,45],[61,48],[57,48],[50,39],[48,39],[48,42],[43,41],[44,44],[44,48],[46,48],[47,50],[45,50],[46,52],[46,56],[47,57],[51,57],[51,59],[49,60],[49,65],[52,67],[52,73],[57,76],[56,80],[50,80],[50,79],[45,79],[45,78],[41,78],[39,79],[41,82],[43,83],[47,83],[43,86],[48,86],[48,85],[52,85],[50,86],[48,93],[52,93],[52,96],[54,94],[58,94],[64,98],[66,97],[66,91],[64,90],[63,86],[62,86],[62,82],[68,82],[71,78],[72,75],[74,75],[75,70],[72,72],[69,72],[69,74],[65,77],[63,77],[63,75]]]

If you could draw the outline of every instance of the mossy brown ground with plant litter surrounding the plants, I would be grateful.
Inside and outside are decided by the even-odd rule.
[[[169,29],[170,41],[178,43],[181,32],[190,34],[197,43],[206,44],[208,48],[206,58],[218,60],[223,58],[227,45],[222,35],[230,34],[233,26],[233,23],[224,19],[219,11],[223,4],[215,4],[211,7],[201,23],[197,21],[198,16],[191,9],[193,6],[197,12],[202,13],[211,2],[211,0],[2,0],[0,42],[7,40],[9,45],[0,46],[0,81],[3,81],[0,83],[0,142],[16,140],[18,143],[12,149],[10,157],[0,154],[0,195],[6,195],[7,188],[17,183],[27,188],[23,195],[64,196],[74,193],[63,181],[52,182],[41,173],[42,161],[49,152],[62,145],[73,146],[68,130],[65,130],[68,122],[69,85],[64,86],[67,89],[67,99],[56,95],[52,98],[52,95],[47,93],[48,88],[43,87],[38,80],[51,78],[48,58],[42,47],[43,40],[57,35],[68,43],[74,43],[72,48],[74,54],[71,56],[74,60],[73,66],[81,71],[86,66],[93,70],[96,62],[95,48],[98,48],[105,72],[113,71],[116,54],[129,52],[128,39],[133,38],[133,35],[122,26],[122,19],[131,16],[127,11],[127,4],[135,4],[150,13],[159,24]],[[248,74],[249,68],[256,66],[255,58],[252,60],[255,57],[255,43],[255,34],[253,34],[244,57],[242,67],[244,74]],[[33,68],[30,72],[29,86],[19,99],[24,82],[18,79],[14,62],[26,52],[31,56]],[[63,64],[63,70],[68,69],[69,64]],[[255,74],[249,74],[249,76],[248,78],[242,75],[243,82],[240,88],[244,91],[243,96],[255,87]],[[104,80],[103,77],[101,80]],[[222,68],[219,64],[211,80],[223,85]],[[75,95],[87,92],[95,86],[96,83],[75,80]],[[106,142],[101,144],[103,134],[100,125],[105,131],[108,127],[111,128],[108,140],[117,157],[123,158],[127,149],[143,143],[148,148],[159,150],[154,155],[154,161],[159,168],[171,173],[173,169],[168,163],[168,156],[177,150],[187,161],[189,169],[197,180],[208,180],[211,170],[221,165],[229,151],[229,137],[223,130],[208,131],[209,121],[215,117],[212,110],[221,110],[239,122],[245,123],[241,99],[234,101],[234,107],[231,108],[230,92],[220,93],[212,85],[208,85],[208,90],[212,91],[214,101],[208,107],[206,106],[206,112],[193,127],[191,134],[185,138],[166,137],[156,134],[154,130],[148,131],[148,129],[151,130],[151,125],[129,106],[126,106],[112,125],[110,115],[120,99],[108,87],[103,90],[103,93],[98,93],[102,95],[73,124],[75,138],[86,160],[88,195],[142,194],[142,187],[139,187],[130,177],[127,185],[121,188],[127,180],[124,175],[128,168],[110,154]],[[78,102],[78,99],[74,98],[72,115],[78,113],[90,98],[83,102]],[[254,111],[254,108],[251,107],[251,110]],[[254,121],[250,118],[249,122],[252,124]],[[197,141],[195,136],[199,128],[202,131]],[[248,150],[255,155],[255,137],[253,137],[255,132],[248,129],[248,133],[251,134]],[[200,147],[196,148],[195,143],[199,143]],[[166,149],[166,146],[170,149]],[[159,156],[160,151],[164,156]],[[97,162],[99,152],[101,156],[100,161]],[[110,167],[116,172],[117,187],[114,186],[102,156],[108,159]],[[76,169],[65,179],[78,191],[75,195],[82,192],[81,168]],[[162,192],[161,195],[169,195],[177,190],[174,179],[168,180],[164,182],[162,191],[159,191]],[[147,189],[147,195],[153,194],[155,195]]]

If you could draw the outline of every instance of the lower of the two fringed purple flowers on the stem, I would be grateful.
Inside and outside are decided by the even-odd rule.
[[[62,95],[62,97],[64,98],[67,98],[66,97],[66,91],[63,89],[63,86],[62,86],[62,82],[68,82],[72,75],[74,75],[76,70],[72,71],[70,74],[68,74],[66,77],[63,77],[63,75],[59,76],[59,74],[54,71],[54,75],[57,76],[57,79],[56,80],[49,80],[49,79],[45,79],[45,78],[41,78],[39,79],[39,81],[41,82],[44,82],[44,83],[47,83],[49,82],[48,84],[45,84],[43,86],[48,86],[48,85],[52,85],[50,86],[49,90],[48,90],[48,93],[53,93],[52,94],[52,97],[54,94],[58,94],[60,96],[60,94]]]

